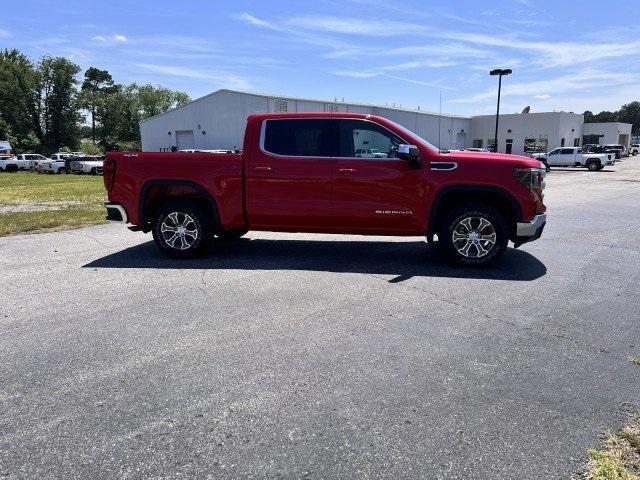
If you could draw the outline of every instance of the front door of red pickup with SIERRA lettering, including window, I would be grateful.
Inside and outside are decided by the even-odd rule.
[[[396,156],[398,145],[408,142],[369,120],[336,123],[340,157],[333,163],[331,204],[336,227],[352,233],[423,232],[428,194],[423,170],[410,169]],[[358,156],[365,149],[375,154]]]

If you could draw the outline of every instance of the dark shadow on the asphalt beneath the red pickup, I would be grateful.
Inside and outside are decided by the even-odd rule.
[[[547,273],[547,268],[537,258],[511,248],[495,266],[457,268],[445,263],[438,249],[429,247],[424,241],[332,242],[248,238],[217,240],[208,253],[194,260],[166,258],[153,242],[146,242],[96,259],[84,268],[308,270],[394,275],[390,283],[412,277],[531,281]]]

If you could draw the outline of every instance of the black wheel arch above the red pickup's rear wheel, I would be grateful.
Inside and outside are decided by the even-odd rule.
[[[211,193],[193,180],[179,179],[148,180],[142,186],[138,203],[138,222],[143,231],[150,231],[149,222],[154,212],[160,205],[171,200],[194,200],[201,204],[212,217],[214,232],[221,231],[218,204]]]

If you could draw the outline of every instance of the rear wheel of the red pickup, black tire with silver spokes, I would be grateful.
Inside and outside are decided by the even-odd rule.
[[[164,228],[163,228],[164,224]],[[182,227],[180,234],[178,229]],[[167,230],[176,228],[176,230]],[[164,231],[163,231],[164,230]],[[176,238],[175,235],[178,235]],[[153,239],[162,253],[171,258],[194,258],[213,237],[211,220],[198,204],[177,200],[162,205],[153,218]],[[173,241],[171,241],[173,239]]]

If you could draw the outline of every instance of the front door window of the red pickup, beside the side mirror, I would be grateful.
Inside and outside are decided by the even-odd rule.
[[[406,143],[386,128],[364,120],[340,120],[340,156],[396,158],[398,145]]]

